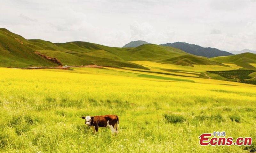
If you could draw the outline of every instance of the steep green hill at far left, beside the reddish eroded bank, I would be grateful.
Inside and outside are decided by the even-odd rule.
[[[30,67],[32,66],[59,66],[39,55],[35,50],[26,46],[28,40],[0,29],[0,66],[2,67]]]

